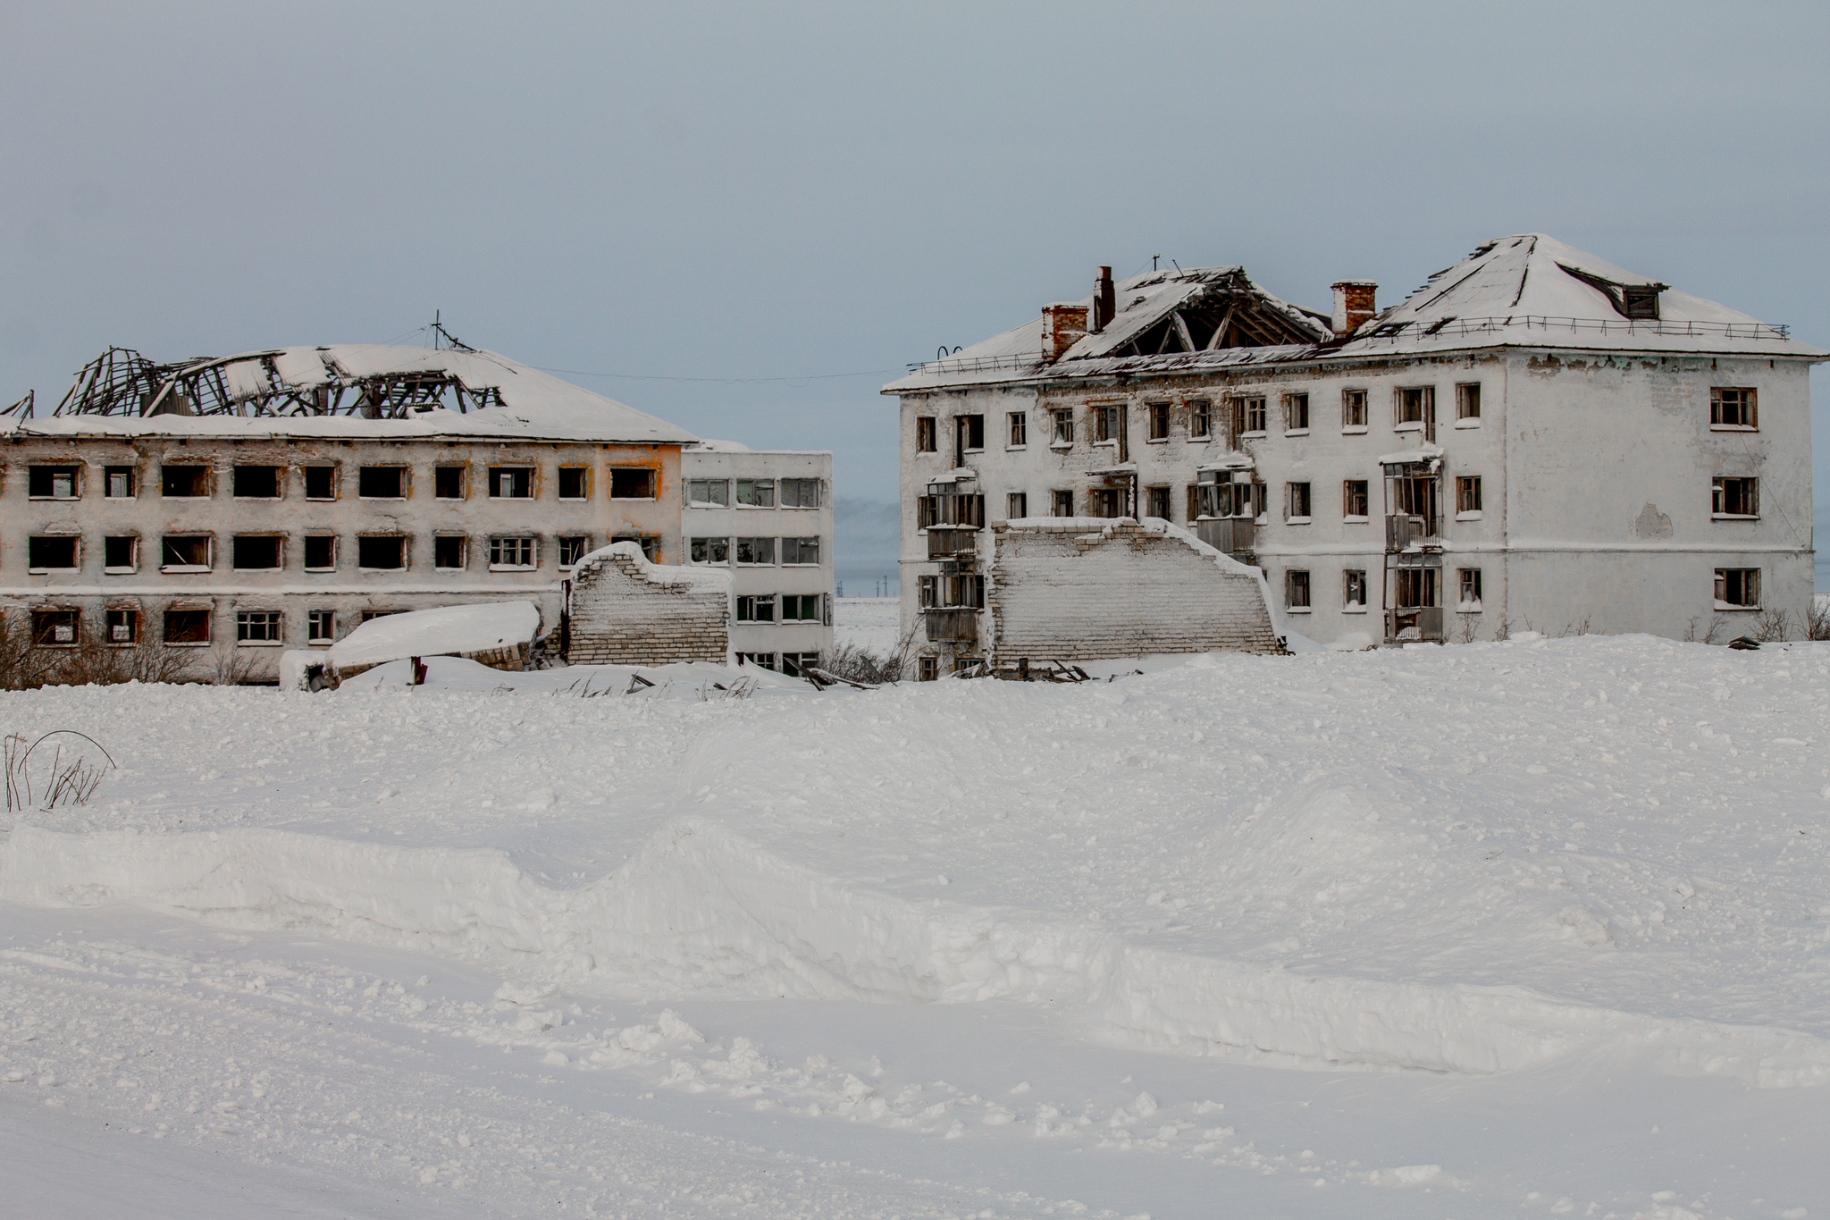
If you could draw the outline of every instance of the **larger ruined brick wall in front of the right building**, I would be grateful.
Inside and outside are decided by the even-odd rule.
[[[1274,653],[1257,569],[1162,521],[992,527],[997,660]]]

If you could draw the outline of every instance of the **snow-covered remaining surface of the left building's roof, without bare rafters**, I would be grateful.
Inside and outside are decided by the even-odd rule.
[[[15,435],[185,435],[185,437],[479,437],[501,441],[604,441],[690,444],[697,437],[615,399],[606,399],[551,373],[494,351],[329,344],[273,348],[214,360],[231,399],[253,399],[318,386],[355,384],[375,377],[447,375],[472,393],[500,399],[468,412],[412,410],[401,419],[362,415],[55,415],[0,419]]]

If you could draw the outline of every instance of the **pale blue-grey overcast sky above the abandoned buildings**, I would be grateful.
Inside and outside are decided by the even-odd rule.
[[[1543,230],[1830,346],[1826,33],[1804,4],[0,0],[0,401],[108,344],[419,342],[441,309],[893,499],[878,386],[1096,263],[1244,263],[1327,309]]]

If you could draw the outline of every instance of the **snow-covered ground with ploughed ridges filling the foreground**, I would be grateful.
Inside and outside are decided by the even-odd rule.
[[[404,668],[0,695],[0,1211],[1830,1216],[1830,646]]]

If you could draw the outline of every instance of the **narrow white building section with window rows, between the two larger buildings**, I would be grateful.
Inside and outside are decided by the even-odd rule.
[[[734,653],[792,673],[833,649],[831,454],[686,446],[681,534],[688,563],[730,573]]]

